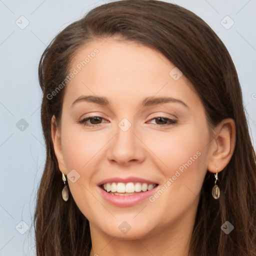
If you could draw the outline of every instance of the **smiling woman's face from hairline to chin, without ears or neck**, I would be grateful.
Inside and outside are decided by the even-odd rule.
[[[191,225],[210,136],[180,70],[110,38],[81,48],[67,79],[56,154],[91,231],[130,239]]]

